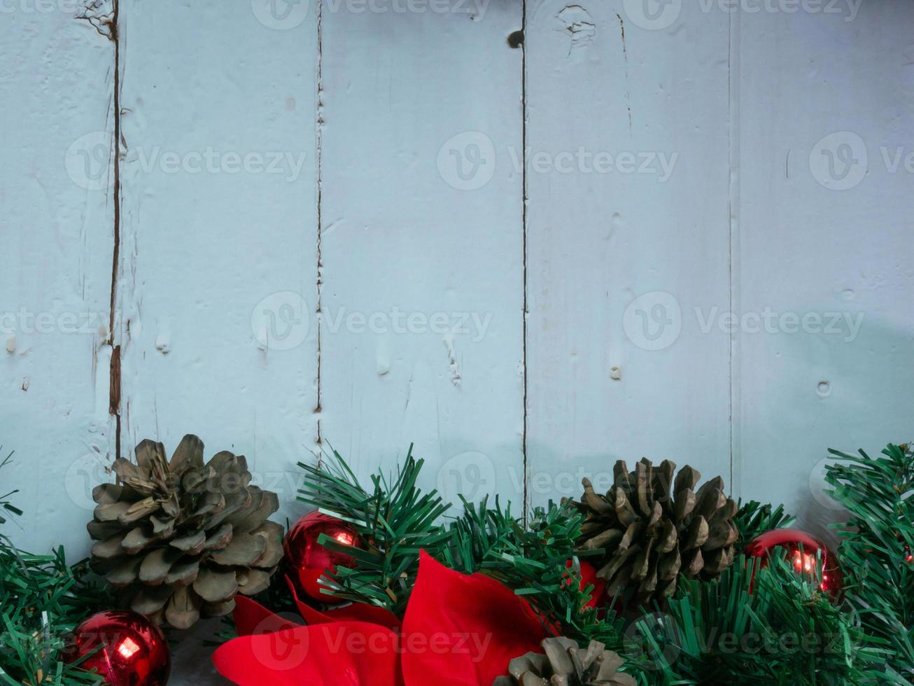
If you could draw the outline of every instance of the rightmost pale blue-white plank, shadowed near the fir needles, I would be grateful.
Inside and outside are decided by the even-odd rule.
[[[778,315],[739,337],[740,490],[820,534],[826,448],[908,440],[914,389],[914,7],[835,6],[739,17],[739,302]]]

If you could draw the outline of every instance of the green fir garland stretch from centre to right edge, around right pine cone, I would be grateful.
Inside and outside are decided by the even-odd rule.
[[[644,686],[904,684],[914,682],[914,456],[907,445],[884,452],[878,460],[834,453],[852,464],[829,468],[834,498],[853,516],[840,526],[840,557],[851,572],[840,604],[823,593],[821,580],[796,573],[775,554],[764,568],[739,555],[717,578],[683,576],[668,601],[634,613],[617,613],[612,601],[595,610],[588,607],[592,588],[581,587],[578,561],[593,551],[578,546],[578,509],[538,509],[525,527],[497,501],[492,509],[463,501],[464,512],[441,524],[449,508],[435,491],[416,487],[422,462],[411,449],[398,476],[378,473],[370,491],[337,453],[320,467],[300,463],[300,499],[371,541],[358,551],[321,540],[356,560],[327,578],[339,598],[402,611],[425,550],[452,569],[482,570],[515,589],[554,635],[619,650],[626,658],[621,669]],[[792,521],[781,506],[739,507],[732,519],[736,552]]]

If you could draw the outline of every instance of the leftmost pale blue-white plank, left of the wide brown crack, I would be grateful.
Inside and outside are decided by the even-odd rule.
[[[111,459],[110,10],[8,3],[0,18],[0,444],[16,450],[0,480],[26,510],[5,533],[76,559]]]

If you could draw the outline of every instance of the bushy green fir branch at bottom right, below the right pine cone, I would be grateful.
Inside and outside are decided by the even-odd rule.
[[[885,642],[797,574],[784,556],[739,557],[715,581],[682,579],[668,610],[630,631],[640,667],[663,684],[850,686],[898,683],[884,673]]]

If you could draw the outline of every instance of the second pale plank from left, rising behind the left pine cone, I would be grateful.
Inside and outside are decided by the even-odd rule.
[[[122,449],[244,454],[278,520],[316,426],[317,32],[292,18],[121,3]]]

